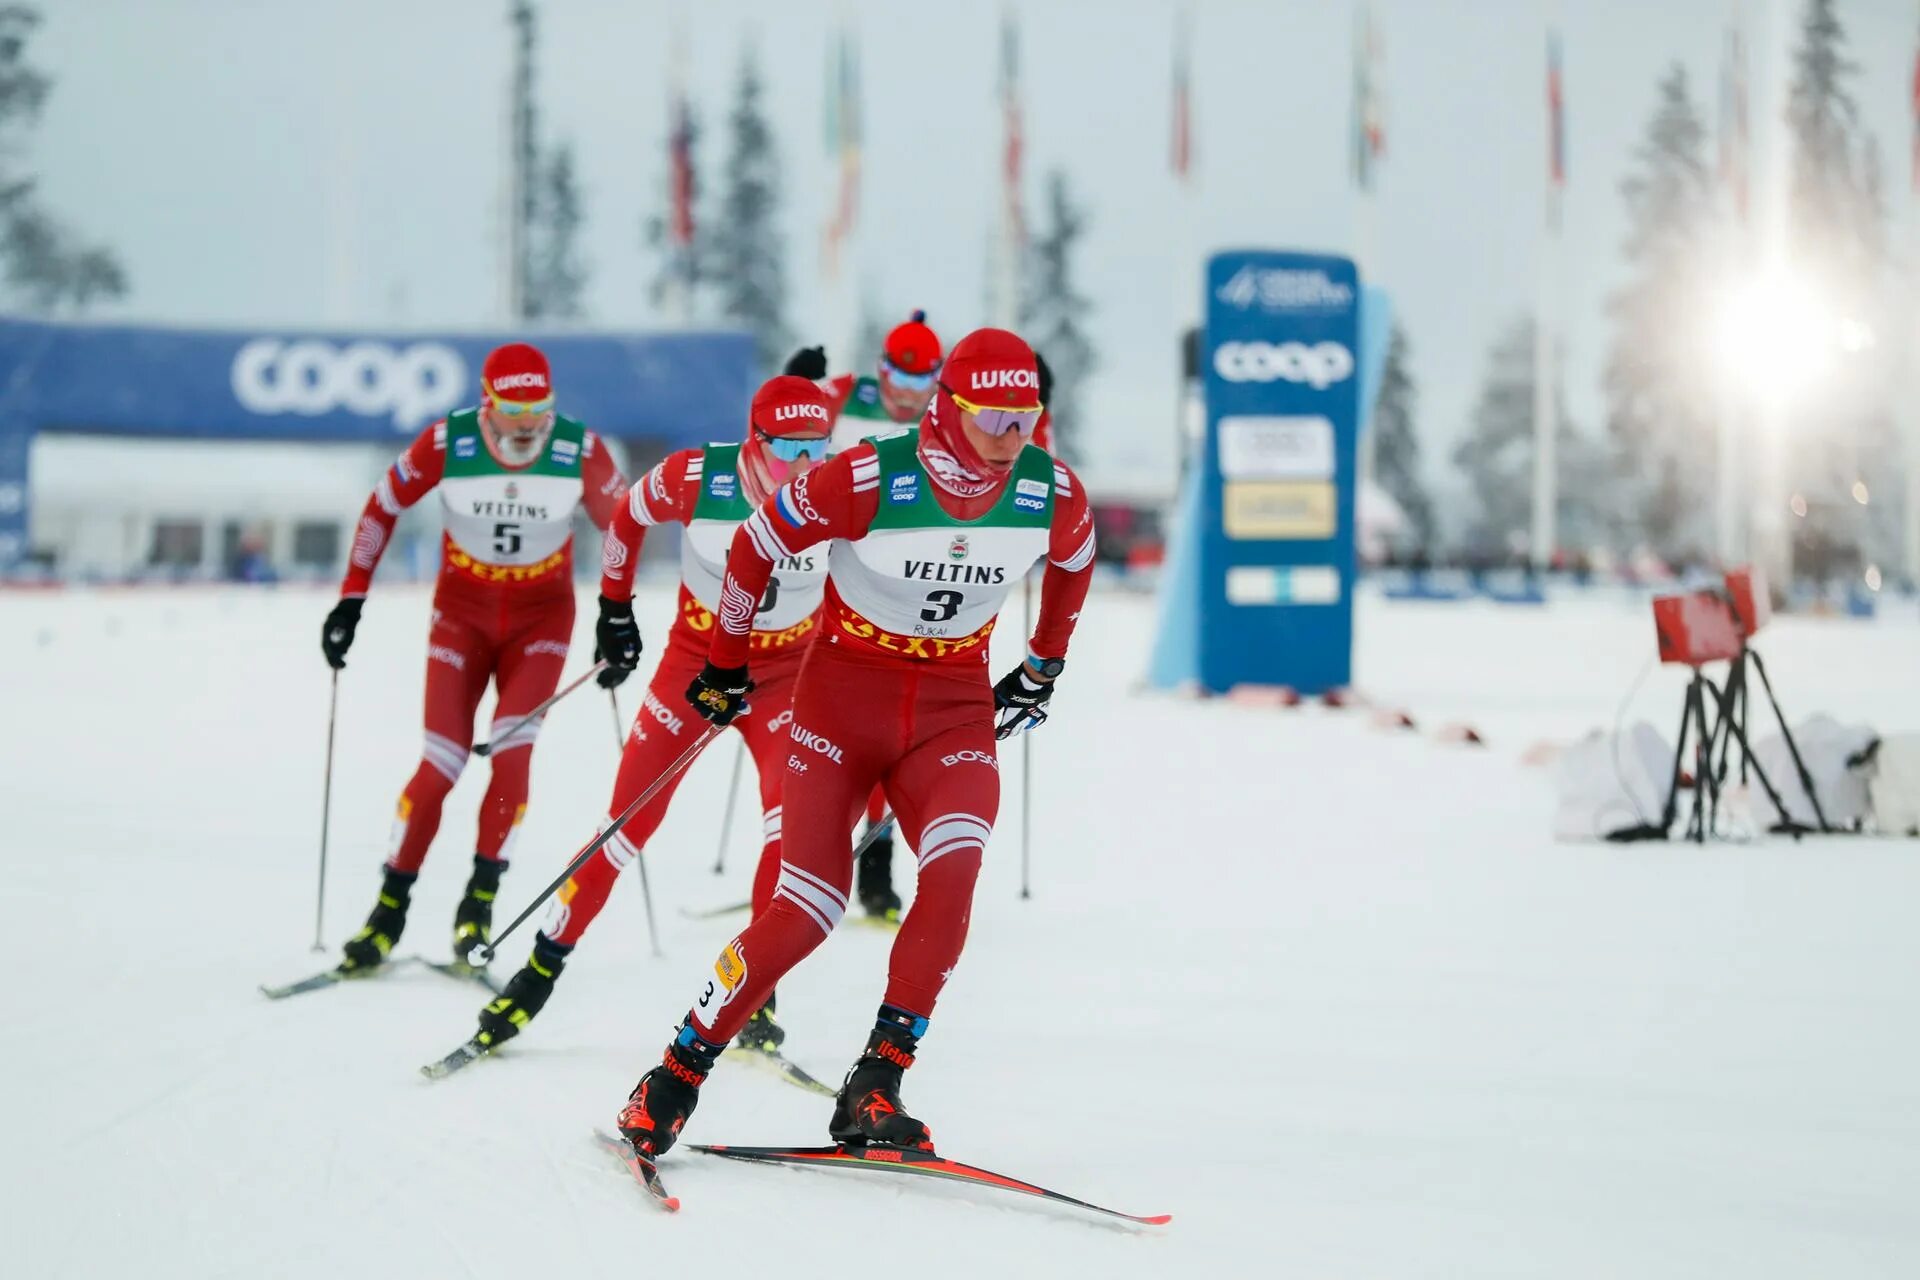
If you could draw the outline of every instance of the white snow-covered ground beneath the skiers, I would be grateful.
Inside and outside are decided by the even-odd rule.
[[[657,641],[668,595],[643,604]],[[1644,604],[1363,603],[1361,685],[1423,729],[1473,722],[1492,747],[1471,750],[1363,712],[1137,693],[1150,604],[1091,603],[1033,741],[1033,900],[1010,794],[908,1098],[948,1153],[1171,1211],[1154,1232],[687,1153],[668,1219],[593,1148],[728,936],[676,908],[745,892],[749,814],[710,873],[732,747],[651,850],[666,958],[622,885],[497,1059],[417,1075],[480,1007],[422,969],[265,1002],[257,983],[324,963],[324,610],[0,597],[8,1276],[1920,1274],[1920,844],[1546,839],[1548,783],[1517,756],[1613,722]],[[424,591],[378,591],[340,685],[330,948],[415,764],[424,624]],[[1795,716],[1912,731],[1916,637],[1784,620],[1766,651]],[[547,722],[509,913],[593,831],[605,702]],[[1655,672],[1630,714],[1670,733],[1676,710]],[[444,954],[482,771],[401,950]],[[818,1075],[858,1050],[885,958],[843,929],[781,986]],[[722,1065],[689,1136],[820,1142],[826,1113]]]

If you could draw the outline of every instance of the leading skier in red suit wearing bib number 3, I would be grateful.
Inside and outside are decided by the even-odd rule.
[[[1008,712],[1004,727],[1044,716],[1092,576],[1087,495],[1029,443],[1039,416],[1031,347],[1006,330],[975,330],[947,359],[918,430],[866,441],[783,486],[733,537],[720,628],[687,689],[716,723],[739,716],[753,691],[749,628],[774,566],[835,541],[822,633],[793,689],[774,902],[720,952],[660,1065],[620,1111],[641,1159],[674,1144],[720,1050],[839,923],[847,835],[876,783],[914,844],[920,887],[829,1132],[931,1148],[927,1126],[900,1103],[900,1079],[966,942],[1000,798],[995,714]],[[989,685],[987,637],[1039,557],[1046,576],[1027,656]]]

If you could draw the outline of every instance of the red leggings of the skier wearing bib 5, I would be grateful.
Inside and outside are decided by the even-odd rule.
[[[419,871],[426,862],[426,848],[440,831],[440,808],[467,768],[474,710],[488,677],[499,689],[493,723],[488,727],[493,775],[480,800],[474,852],[501,862],[513,856],[513,835],[526,816],[526,773],[540,735],[538,720],[518,727],[515,722],[553,697],[572,633],[572,587],[564,595],[541,595],[513,606],[434,597],[434,626],[426,633],[426,743],[420,766],[399,794],[386,865]],[[511,735],[495,741],[507,729]]]

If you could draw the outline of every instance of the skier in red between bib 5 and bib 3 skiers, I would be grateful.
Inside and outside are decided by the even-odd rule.
[[[655,524],[682,524],[680,614],[666,633],[666,654],[647,685],[647,700],[634,716],[634,729],[620,756],[607,814],[618,816],[641,791],[699,737],[701,722],[685,704],[685,687],[707,662],[707,645],[720,608],[728,547],[741,526],[781,484],[804,476],[826,459],[831,415],[826,395],[806,378],[770,378],[753,397],[745,443],[714,443],[666,455],[634,482],[612,518],[601,553],[599,651],[609,662],[632,670],[639,660],[634,624],[634,578],[639,547]],[[787,702],[801,656],[820,629],[820,593],[828,574],[828,549],[810,547],[781,558],[760,591],[747,651],[753,654],[753,714],[733,722],[760,773],[764,842],[753,879],[753,910],[774,896],[780,877],[780,783],[787,762]],[[599,915],[620,869],[641,856],[680,785],[674,777],[614,835],[601,852],[561,887],[545,927],[534,936],[534,954],[507,983],[507,990],[480,1013],[474,1036],[497,1048],[526,1027],[553,994],[553,981],[566,965],[580,936]],[[774,1023],[772,1000],[753,1011],[741,1032],[751,1048],[780,1048],[785,1031]]]

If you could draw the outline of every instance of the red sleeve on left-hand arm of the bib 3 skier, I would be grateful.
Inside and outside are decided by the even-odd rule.
[[[854,445],[799,480],[781,486],[747,516],[728,547],[720,585],[720,626],[707,660],[745,666],[753,610],[774,576],[774,564],[829,537],[866,537],[879,510],[879,455]]]

